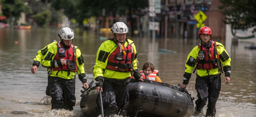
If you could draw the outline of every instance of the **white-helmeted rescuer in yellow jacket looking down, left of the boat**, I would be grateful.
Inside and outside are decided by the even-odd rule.
[[[62,28],[58,34],[60,43],[52,45],[42,66],[50,69],[51,109],[73,110],[75,97],[75,72],[85,88],[88,88],[84,70],[84,59],[78,47],[72,45],[74,31]]]

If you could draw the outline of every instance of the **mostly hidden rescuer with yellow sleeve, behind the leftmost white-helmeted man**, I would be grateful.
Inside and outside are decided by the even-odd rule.
[[[58,41],[58,42],[60,42],[60,41]],[[48,52],[48,49],[52,45],[57,44],[58,42],[55,40],[54,42],[50,43],[49,45],[46,45],[43,49],[41,49],[37,52],[37,55],[35,56],[34,62],[32,64],[33,66],[31,68],[31,72],[33,74],[35,74],[37,72],[37,68],[39,67],[41,61],[43,61],[44,57],[46,56],[46,53]],[[49,69],[47,69],[47,71],[48,71],[48,74],[49,74]],[[48,80],[49,80],[49,75],[48,75]],[[48,85],[46,86],[45,94],[50,96],[50,89],[49,89]]]

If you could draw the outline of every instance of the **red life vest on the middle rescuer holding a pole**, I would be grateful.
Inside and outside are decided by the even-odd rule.
[[[113,38],[110,40],[113,41]],[[108,57],[106,69],[116,72],[132,71],[135,54],[132,45],[128,41],[127,43],[127,47],[119,42],[116,43],[115,50]]]

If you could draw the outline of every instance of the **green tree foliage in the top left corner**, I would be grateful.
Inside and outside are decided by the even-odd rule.
[[[21,17],[21,12],[31,13],[30,7],[21,0],[1,0],[1,5],[3,15],[8,18],[8,23],[12,17],[17,21]]]

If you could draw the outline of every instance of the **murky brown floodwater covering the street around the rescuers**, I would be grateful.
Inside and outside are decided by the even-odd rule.
[[[59,40],[60,28],[32,28],[15,30],[0,28],[0,116],[46,116],[46,117],[82,117],[80,110],[80,90],[82,83],[77,79],[74,110],[51,110],[49,97],[45,94],[47,86],[46,68],[40,67],[36,74],[31,73],[33,59],[38,50]],[[93,31],[79,31],[74,28],[73,44],[78,46],[85,59],[85,73],[89,81],[93,80],[92,68],[100,44],[111,34],[96,34]],[[100,36],[100,37],[99,37]],[[130,37],[130,35],[128,36]],[[216,104],[216,117],[255,117],[256,116],[256,50],[244,46],[255,44],[255,40],[231,43],[231,35],[220,42],[227,49],[231,61],[231,81],[224,83],[222,75],[221,93]],[[199,39],[150,39],[133,37],[138,51],[138,69],[143,63],[151,61],[160,72],[163,82],[177,85],[182,83],[185,62],[188,54],[200,41]],[[214,40],[214,39],[213,39]],[[214,40],[217,41],[217,40]],[[177,53],[160,52],[168,49]],[[78,78],[78,77],[77,77]],[[192,74],[187,90],[196,97],[196,75]],[[196,100],[195,99],[195,100]],[[195,101],[194,100],[194,101]],[[206,106],[203,109],[204,115]]]

